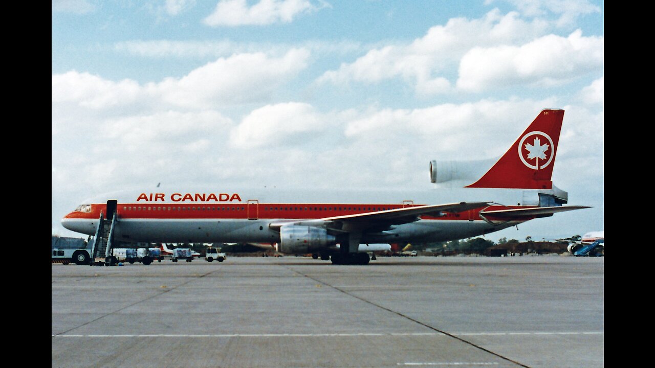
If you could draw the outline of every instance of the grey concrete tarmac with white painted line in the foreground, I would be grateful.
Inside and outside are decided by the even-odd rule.
[[[52,367],[603,367],[604,257],[52,265]]]

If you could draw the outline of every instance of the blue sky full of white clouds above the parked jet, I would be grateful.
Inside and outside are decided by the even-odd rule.
[[[604,4],[52,1],[52,234],[132,187],[403,188],[565,110],[569,204],[485,238],[604,229]],[[485,198],[484,200],[487,200]],[[438,203],[434,203],[438,204]]]

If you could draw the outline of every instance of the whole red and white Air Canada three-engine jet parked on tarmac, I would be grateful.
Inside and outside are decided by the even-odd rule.
[[[319,253],[336,265],[367,265],[360,244],[471,238],[589,208],[563,206],[568,193],[551,181],[563,117],[562,109],[540,111],[489,170],[463,187],[122,191],[84,201],[62,225],[99,235],[101,225],[111,223],[113,239],[130,242],[277,244],[281,253]],[[475,170],[466,165],[432,160],[430,181],[468,180]]]

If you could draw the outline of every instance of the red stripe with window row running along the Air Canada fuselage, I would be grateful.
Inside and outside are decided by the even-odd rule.
[[[421,206],[415,205],[414,207]],[[170,206],[162,204],[119,204],[117,213],[121,219],[322,219],[379,212],[403,208],[401,204],[184,204]],[[510,206],[510,208],[526,208]],[[505,206],[491,206],[487,211],[507,210]],[[467,212],[444,212],[441,217],[422,215],[421,218],[440,220],[481,220],[483,208]],[[71,212],[67,219],[98,219],[107,212],[106,204],[93,204],[91,212]]]

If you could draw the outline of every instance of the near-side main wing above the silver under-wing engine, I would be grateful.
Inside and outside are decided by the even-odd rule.
[[[491,202],[459,202],[449,204],[434,204],[429,206],[414,206],[397,208],[395,210],[356,213],[354,215],[343,215],[324,217],[322,219],[308,219],[300,221],[280,221],[269,225],[272,229],[279,229],[283,225],[303,225],[326,227],[333,230],[349,231],[353,229],[378,229],[383,230],[391,225],[402,225],[419,221],[421,215],[433,215],[439,217],[442,212],[463,212],[474,208],[489,206]]]

